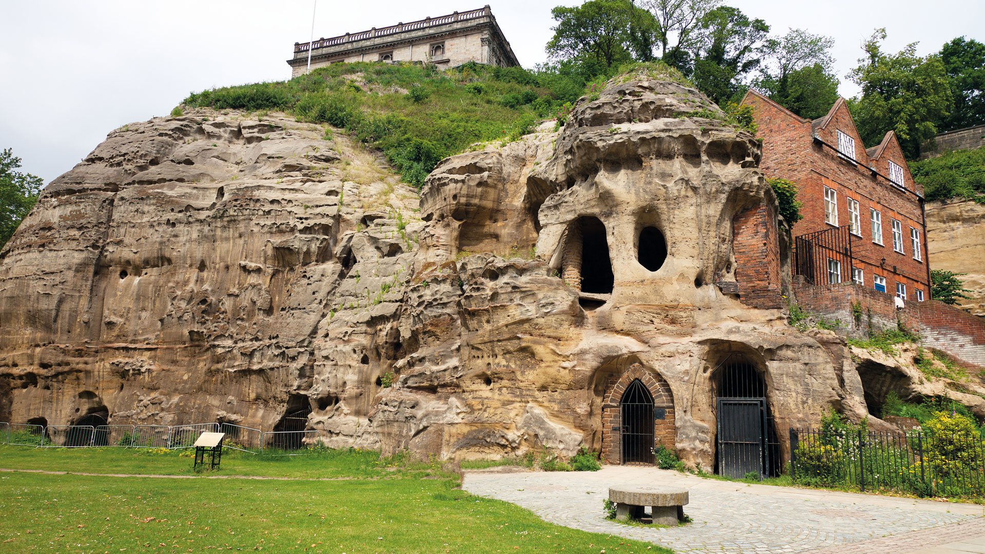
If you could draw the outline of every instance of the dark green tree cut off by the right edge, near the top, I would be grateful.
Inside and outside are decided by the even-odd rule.
[[[958,36],[941,48],[941,62],[951,80],[953,109],[939,131],[985,123],[985,44]]]

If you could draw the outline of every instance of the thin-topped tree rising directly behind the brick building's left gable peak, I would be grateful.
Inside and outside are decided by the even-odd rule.
[[[753,86],[801,117],[821,117],[838,100],[838,79],[831,73],[833,45],[833,38],[801,29],[767,39]]]

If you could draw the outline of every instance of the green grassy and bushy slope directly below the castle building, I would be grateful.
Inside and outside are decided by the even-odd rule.
[[[418,64],[337,63],[290,81],[194,93],[182,104],[283,110],[345,128],[382,151],[421,186],[441,159],[470,144],[515,140],[584,94],[585,82],[555,72],[468,63],[448,71]]]

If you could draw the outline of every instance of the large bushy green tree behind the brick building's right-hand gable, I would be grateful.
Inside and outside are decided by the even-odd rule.
[[[938,132],[936,122],[947,116],[952,92],[944,63],[938,55],[916,55],[916,42],[896,54],[882,50],[886,30],[869,37],[866,57],[849,78],[862,87],[862,97],[849,108],[866,144],[876,144],[895,131],[907,158],[915,159],[920,143]]]

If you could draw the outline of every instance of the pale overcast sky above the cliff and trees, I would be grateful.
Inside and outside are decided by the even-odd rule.
[[[319,0],[315,38],[355,33],[481,7],[468,1]],[[545,61],[551,8],[579,2],[486,0],[524,67]],[[940,49],[954,36],[985,41],[981,0],[798,2],[726,0],[777,34],[788,28],[834,37],[844,75],[875,28],[886,48],[919,41]],[[0,33],[0,148],[45,182],[72,169],[106,133],[164,115],[191,91],[283,80],[295,41],[307,41],[312,0],[11,0]]]

